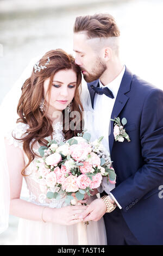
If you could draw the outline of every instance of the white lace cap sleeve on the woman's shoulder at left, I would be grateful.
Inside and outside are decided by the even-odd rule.
[[[23,143],[21,141],[17,141],[17,139],[15,139],[14,137],[18,139],[23,138],[28,128],[29,128],[28,124],[17,123],[14,129],[5,133],[4,137],[8,139],[9,145],[14,145],[16,148],[19,147],[23,149]]]

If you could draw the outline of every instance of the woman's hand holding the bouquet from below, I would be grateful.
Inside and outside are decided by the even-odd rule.
[[[52,209],[52,222],[60,225],[73,225],[82,220],[79,215],[87,209],[85,205],[65,206],[59,209]]]

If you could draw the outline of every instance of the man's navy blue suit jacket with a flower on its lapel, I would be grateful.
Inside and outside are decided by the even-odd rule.
[[[92,107],[98,80],[88,83]],[[163,245],[163,92],[126,68],[111,118],[126,118],[130,142],[115,142],[111,121],[109,148],[117,174],[111,193],[122,215],[143,245]],[[106,117],[110,119],[110,116]],[[102,136],[102,135],[100,135]]]

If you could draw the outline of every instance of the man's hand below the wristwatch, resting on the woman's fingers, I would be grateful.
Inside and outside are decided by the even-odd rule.
[[[101,198],[95,199],[87,207],[85,211],[79,216],[79,218],[86,221],[99,221],[106,212],[106,205]]]

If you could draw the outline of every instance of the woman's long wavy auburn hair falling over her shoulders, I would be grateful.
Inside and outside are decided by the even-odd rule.
[[[65,122],[65,111],[62,111],[63,115],[63,132],[65,139],[70,139],[73,136],[76,136],[77,132],[82,132],[82,123],[83,123],[83,106],[80,101],[80,92],[81,92],[81,81],[82,74],[79,66],[74,62],[74,58],[64,52],[61,49],[48,51],[40,60],[39,66],[45,65],[45,63],[50,59],[47,68],[41,70],[40,72],[35,72],[35,69],[32,71],[32,75],[24,82],[22,86],[22,94],[17,106],[17,114],[20,118],[17,119],[17,123],[24,123],[29,125],[29,129],[23,136],[23,138],[18,139],[23,142],[24,153],[28,156],[28,164],[23,168],[22,175],[24,170],[29,166],[29,164],[34,160],[35,155],[38,156],[34,150],[34,144],[38,142],[40,145],[47,145],[47,140],[45,137],[51,136],[52,138],[52,121],[47,117],[48,102],[45,101],[47,110],[42,112],[40,109],[40,103],[42,98],[44,98],[44,89],[43,84],[47,78],[49,79],[48,85],[48,97],[51,96],[52,81],[54,75],[59,70],[73,70],[77,74],[77,86],[72,100],[72,111],[77,111],[79,114],[78,130],[74,127],[73,130],[70,127],[67,127]],[[73,118],[69,117],[69,124]]]

